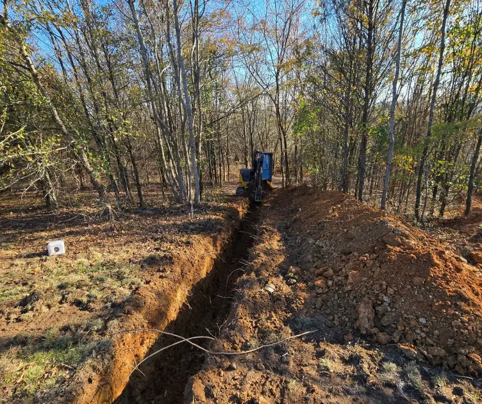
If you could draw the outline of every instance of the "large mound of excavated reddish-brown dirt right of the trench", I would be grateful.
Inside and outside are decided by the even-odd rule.
[[[299,235],[290,258],[339,331],[413,344],[430,362],[481,372],[482,279],[448,246],[342,193],[300,187],[271,206],[294,214],[284,224]]]

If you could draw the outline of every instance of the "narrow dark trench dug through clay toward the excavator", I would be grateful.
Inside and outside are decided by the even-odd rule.
[[[191,289],[187,302],[165,331],[186,338],[210,333],[217,336],[229,314],[234,284],[243,273],[240,262],[248,258],[253,244],[258,209],[257,204],[251,203],[212,270]],[[148,355],[176,341],[178,338],[160,336]],[[139,368],[142,373],[132,374],[114,403],[182,403],[189,377],[196,374],[203,363],[203,352],[187,343],[175,345],[144,362]]]

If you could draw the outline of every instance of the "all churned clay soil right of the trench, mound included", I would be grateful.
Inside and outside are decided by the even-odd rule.
[[[306,186],[273,192],[260,223],[252,272],[238,281],[212,349],[246,351],[318,331],[208,357],[187,402],[421,401],[397,382],[376,385],[387,358],[482,373],[481,274],[448,245],[346,194]],[[334,376],[337,363],[347,378]]]

